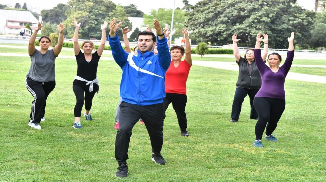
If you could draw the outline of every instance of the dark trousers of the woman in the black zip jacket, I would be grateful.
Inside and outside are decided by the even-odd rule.
[[[232,112],[231,118],[232,119],[239,119],[239,115],[241,112],[241,105],[244,102],[244,98],[249,95],[250,98],[250,118],[257,119],[258,114],[256,112],[255,107],[253,106],[253,98],[257,94],[259,89],[245,89],[243,87],[236,88],[236,92],[234,93],[233,104],[232,104]]]

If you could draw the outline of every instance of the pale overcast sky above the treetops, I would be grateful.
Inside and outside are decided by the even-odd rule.
[[[151,9],[173,9],[175,1],[175,8],[182,8],[184,4],[182,0],[111,0],[115,4],[121,4],[126,6],[129,4],[135,4],[138,10],[143,11],[145,14],[149,14]],[[200,0],[188,0],[189,4],[195,5]],[[68,0],[0,0],[0,4],[14,7],[16,3],[19,3],[23,7],[24,2],[27,4],[27,9],[40,12],[43,9],[52,9],[59,3],[66,4]],[[298,4],[308,10],[314,9],[315,0],[297,0]]]

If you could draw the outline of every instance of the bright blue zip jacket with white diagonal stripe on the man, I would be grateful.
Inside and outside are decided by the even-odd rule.
[[[146,52],[132,55],[124,51],[118,36],[108,37],[112,55],[122,69],[120,96],[130,104],[147,106],[163,103],[165,98],[165,73],[170,66],[171,55],[164,37],[157,37],[158,54]]]

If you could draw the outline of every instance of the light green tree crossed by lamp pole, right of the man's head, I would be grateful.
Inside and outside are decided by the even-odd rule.
[[[162,29],[164,27],[171,27],[172,22],[172,11],[173,9],[165,9],[165,8],[159,8],[157,11],[155,9],[152,9],[150,12],[150,15],[144,15],[144,26],[150,26],[153,27],[153,21],[157,19]],[[172,38],[178,38],[183,37],[183,34],[181,32],[182,28],[185,27],[185,12],[181,9],[175,9],[174,10],[174,20],[173,20],[173,36]],[[172,30],[170,30],[172,32]]]

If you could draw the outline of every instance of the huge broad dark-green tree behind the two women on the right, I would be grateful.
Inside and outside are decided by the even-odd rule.
[[[269,35],[271,48],[287,48],[287,37],[296,32],[296,43],[310,37],[313,12],[295,5],[296,0],[202,0],[187,13],[187,26],[198,41],[213,45],[254,47],[258,32]]]

